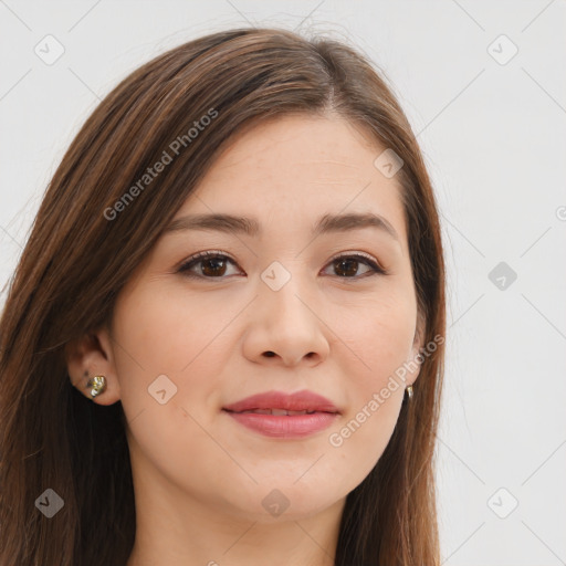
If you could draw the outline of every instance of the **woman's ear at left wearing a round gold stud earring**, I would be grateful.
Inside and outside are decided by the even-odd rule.
[[[71,382],[87,399],[98,405],[113,405],[120,399],[112,339],[106,328],[66,344],[65,359]],[[95,398],[87,386],[94,376],[106,378],[106,389]]]

